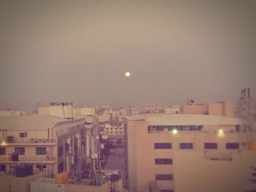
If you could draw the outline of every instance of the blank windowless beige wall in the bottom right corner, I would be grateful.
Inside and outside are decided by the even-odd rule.
[[[241,192],[255,189],[249,182],[256,153],[244,151],[238,161],[210,161],[203,153],[178,151],[174,154],[176,192]]]

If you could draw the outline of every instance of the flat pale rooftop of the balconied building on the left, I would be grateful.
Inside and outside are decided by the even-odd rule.
[[[74,120],[83,118],[83,116],[75,115]],[[70,121],[72,120],[50,115],[7,116],[0,117],[0,130],[42,130],[52,128],[57,123]]]

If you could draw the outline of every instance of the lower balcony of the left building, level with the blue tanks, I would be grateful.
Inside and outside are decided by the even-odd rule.
[[[11,161],[11,155],[0,155],[1,163],[54,163],[56,157],[51,155],[18,155],[19,161]]]

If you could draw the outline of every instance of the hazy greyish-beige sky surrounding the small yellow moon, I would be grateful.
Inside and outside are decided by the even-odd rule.
[[[0,105],[256,96],[256,1],[0,1]],[[124,72],[131,72],[129,78]]]

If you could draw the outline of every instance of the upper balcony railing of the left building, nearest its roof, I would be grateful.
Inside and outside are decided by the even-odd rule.
[[[15,138],[15,137],[7,137],[6,139],[1,139],[8,143],[54,143],[55,139],[49,138]],[[2,142],[0,140],[0,142]]]

